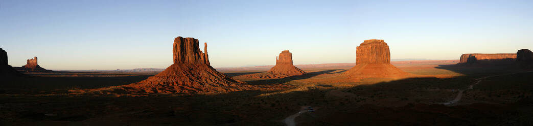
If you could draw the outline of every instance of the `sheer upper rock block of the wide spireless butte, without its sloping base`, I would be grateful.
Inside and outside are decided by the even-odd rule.
[[[357,64],[390,64],[391,53],[385,41],[365,40],[357,47]]]

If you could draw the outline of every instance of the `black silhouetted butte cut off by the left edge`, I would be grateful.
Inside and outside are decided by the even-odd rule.
[[[19,71],[13,69],[11,65],[7,64],[7,52],[0,48],[0,81],[4,80],[5,78],[10,79],[14,77],[22,77],[23,74],[19,73]]]

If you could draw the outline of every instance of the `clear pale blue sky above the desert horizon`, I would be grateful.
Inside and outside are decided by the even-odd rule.
[[[166,68],[176,37],[208,44],[211,65],[356,61],[368,39],[391,59],[459,59],[533,49],[533,1],[6,1],[0,48],[20,67]]]

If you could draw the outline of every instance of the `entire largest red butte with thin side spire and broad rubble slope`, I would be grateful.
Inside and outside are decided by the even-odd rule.
[[[200,51],[198,40],[177,37],[172,47],[174,64],[161,73],[125,86],[111,87],[115,93],[206,93],[251,89],[209,64],[207,43]]]

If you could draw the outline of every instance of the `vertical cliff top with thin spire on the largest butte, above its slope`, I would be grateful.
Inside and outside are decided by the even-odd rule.
[[[174,39],[172,52],[174,53],[174,64],[207,64],[207,43],[204,43],[204,52],[200,51],[198,39],[177,37]]]

